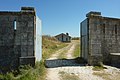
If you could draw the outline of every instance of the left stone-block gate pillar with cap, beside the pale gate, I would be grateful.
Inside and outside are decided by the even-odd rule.
[[[34,10],[21,10],[22,14],[18,16],[18,20],[16,20],[16,36],[15,36],[15,53],[20,53],[20,64],[19,65],[25,65],[28,63],[22,63],[27,62],[26,60],[32,58],[34,62],[29,63],[30,65],[35,64],[35,31],[36,31],[36,16]],[[31,13],[31,14],[30,14]],[[17,47],[17,48],[16,48]],[[26,59],[28,58],[28,59]]]

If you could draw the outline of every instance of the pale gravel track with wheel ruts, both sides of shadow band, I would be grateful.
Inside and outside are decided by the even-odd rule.
[[[48,60],[57,59],[57,57],[67,49],[67,59],[73,58],[76,43],[72,42],[67,47],[56,51]],[[120,69],[105,66],[107,69],[94,71],[93,66],[62,66],[47,68],[46,80],[120,80]],[[76,78],[77,77],[77,78]]]

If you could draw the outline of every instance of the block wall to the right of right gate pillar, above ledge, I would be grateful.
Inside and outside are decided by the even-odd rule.
[[[104,62],[109,63],[110,53],[120,53],[120,19],[104,18],[103,21],[105,33],[103,33],[102,54]]]

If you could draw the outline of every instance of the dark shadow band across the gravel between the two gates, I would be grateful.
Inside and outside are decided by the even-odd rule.
[[[46,68],[65,67],[65,66],[85,66],[86,62],[82,58],[75,59],[53,59],[45,60]]]

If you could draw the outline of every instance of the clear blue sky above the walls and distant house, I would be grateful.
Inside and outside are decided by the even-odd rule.
[[[0,11],[20,11],[22,6],[35,7],[42,34],[51,36],[69,33],[79,37],[80,22],[90,11],[120,18],[120,0],[0,0]]]

